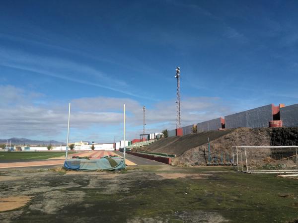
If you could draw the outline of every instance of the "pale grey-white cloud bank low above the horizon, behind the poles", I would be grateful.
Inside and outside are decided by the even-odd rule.
[[[0,86],[0,138],[26,137],[31,139],[51,138],[64,141],[67,129],[67,103],[34,104],[43,97],[36,92],[28,92],[13,86]],[[4,93],[3,93],[4,92]],[[5,102],[12,101],[9,109]],[[71,112],[71,139],[100,139],[113,141],[123,128],[123,104],[127,104],[128,138],[135,138],[142,132],[143,105],[130,98],[84,97],[73,99]],[[228,106],[220,98],[192,97],[182,100],[182,125],[229,114]],[[164,101],[147,108],[147,129],[156,132],[174,129],[176,122],[175,101]]]

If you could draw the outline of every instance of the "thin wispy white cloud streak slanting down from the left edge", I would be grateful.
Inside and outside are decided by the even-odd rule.
[[[128,84],[123,80],[119,80],[108,75],[102,74],[101,72],[89,66],[74,63],[72,61],[64,59],[53,59],[41,56],[32,56],[23,52],[16,52],[0,48],[0,65],[31,73],[43,74],[46,76],[60,78],[76,83],[109,89],[137,98],[154,100],[150,97],[132,93],[128,90],[122,90],[129,87]],[[89,75],[93,77],[94,81],[91,82],[85,79],[75,78],[73,77],[74,74],[77,74],[79,76]],[[113,85],[117,87],[110,86],[110,83],[113,83]]]

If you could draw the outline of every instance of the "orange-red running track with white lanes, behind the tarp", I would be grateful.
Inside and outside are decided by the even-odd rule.
[[[79,152],[79,153],[73,153],[68,156],[68,158],[72,158],[72,156],[88,156],[90,159],[99,159],[103,156],[109,156],[109,155],[117,155],[113,151],[85,151],[85,152]],[[40,161],[29,161],[29,162],[8,162],[8,163],[0,163],[0,169],[1,168],[16,168],[16,167],[30,167],[30,166],[50,166],[50,165],[62,165],[64,163],[65,157],[55,157],[50,158],[46,160],[40,160]],[[127,165],[137,165],[136,163],[126,159]]]

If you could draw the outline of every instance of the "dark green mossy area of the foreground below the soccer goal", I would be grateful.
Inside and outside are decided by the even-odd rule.
[[[276,174],[239,173],[230,167],[180,169],[183,170],[181,172],[192,173],[210,173],[213,170],[211,174],[214,176],[207,179],[168,179],[158,190],[146,190],[147,198],[175,197],[173,203],[161,199],[157,210],[217,211],[233,223],[298,219],[298,180],[280,178]]]

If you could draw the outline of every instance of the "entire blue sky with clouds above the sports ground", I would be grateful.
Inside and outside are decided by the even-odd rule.
[[[298,101],[297,1],[2,1],[0,138],[65,141],[175,128]]]

